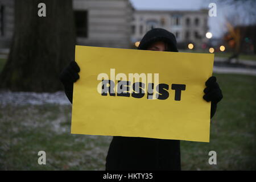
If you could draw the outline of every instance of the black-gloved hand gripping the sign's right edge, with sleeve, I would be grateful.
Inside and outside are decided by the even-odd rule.
[[[217,109],[217,103],[220,102],[223,98],[220,86],[216,82],[216,77],[212,76],[205,82],[207,88],[204,89],[204,100],[209,102],[211,101],[210,106],[210,118],[213,117]]]

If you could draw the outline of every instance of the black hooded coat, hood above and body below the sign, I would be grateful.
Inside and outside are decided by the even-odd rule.
[[[142,38],[138,49],[162,40],[168,51],[177,52],[174,34],[154,28]],[[106,157],[106,170],[180,170],[180,141],[141,137],[113,137]]]

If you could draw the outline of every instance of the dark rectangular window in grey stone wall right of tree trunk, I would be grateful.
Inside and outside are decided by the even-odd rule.
[[[85,10],[75,11],[76,36],[88,37],[88,12]]]

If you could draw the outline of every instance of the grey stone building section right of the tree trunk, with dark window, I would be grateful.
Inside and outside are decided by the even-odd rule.
[[[77,44],[130,48],[134,9],[129,0],[73,0]]]

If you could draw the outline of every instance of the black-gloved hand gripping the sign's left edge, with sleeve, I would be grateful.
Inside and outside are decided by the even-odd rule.
[[[71,61],[60,73],[60,81],[64,85],[65,94],[71,103],[73,100],[73,84],[79,79],[79,72],[79,65],[76,61]]]

